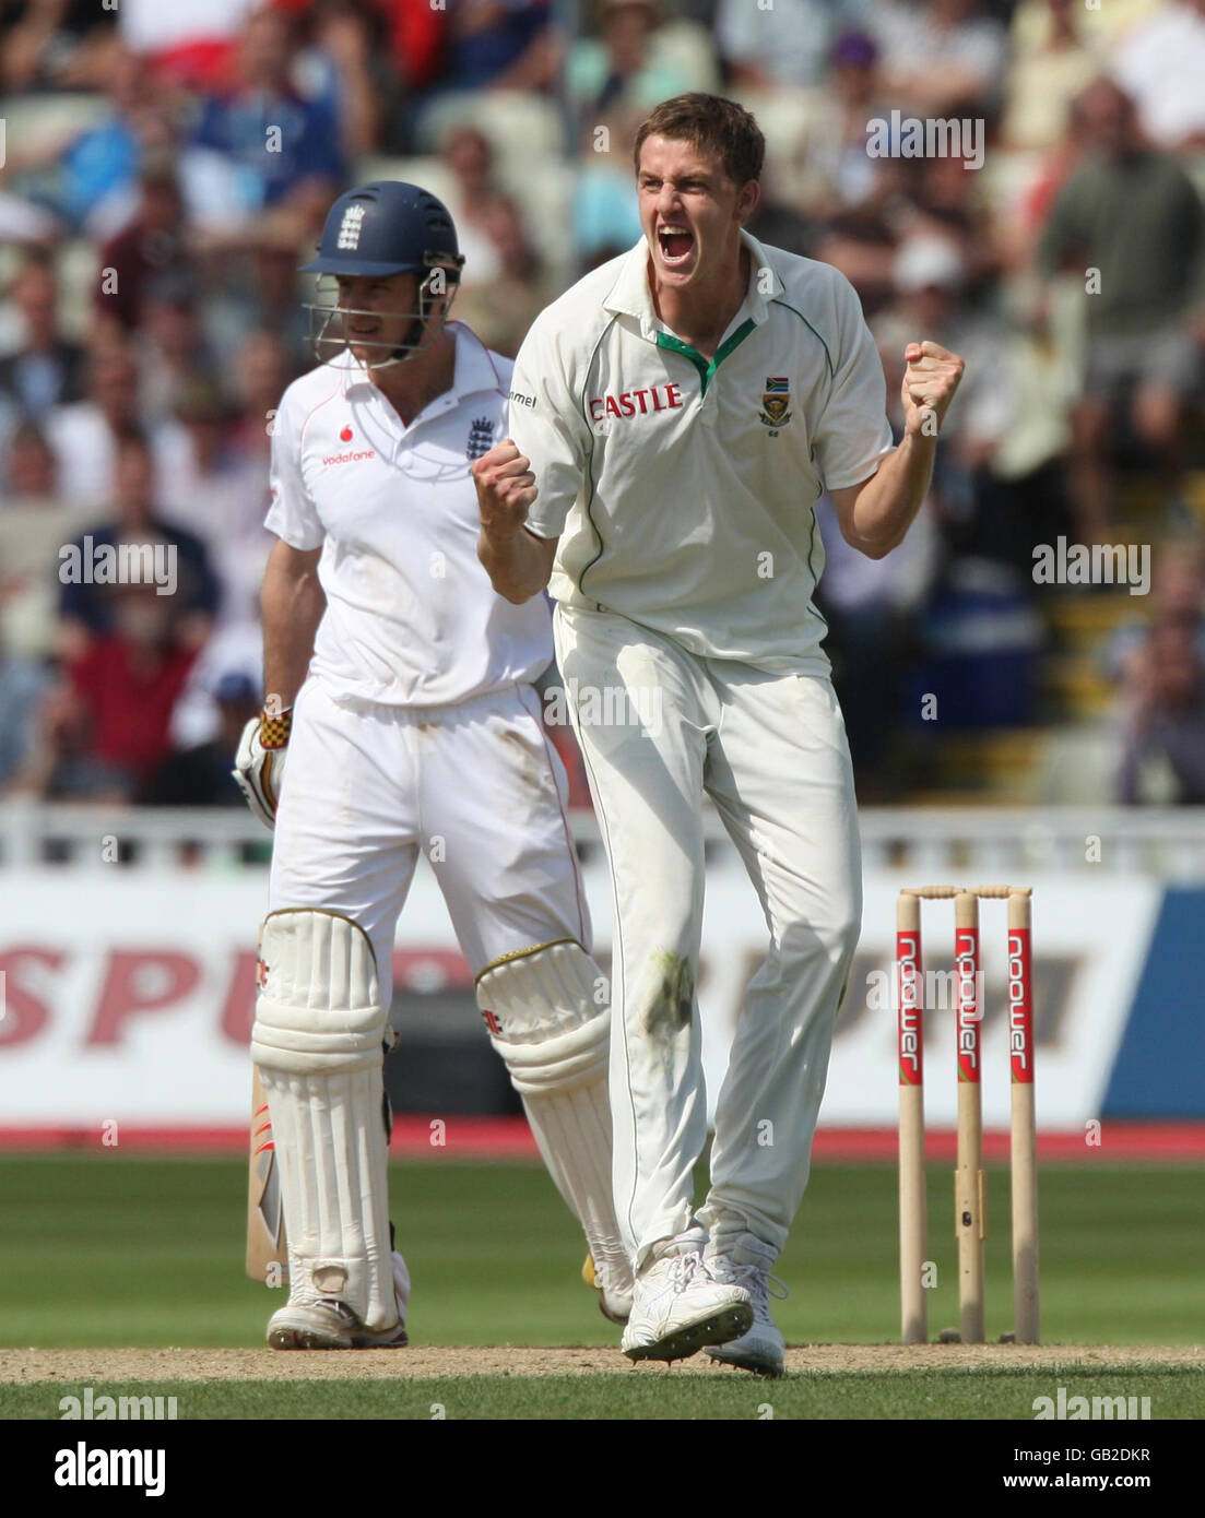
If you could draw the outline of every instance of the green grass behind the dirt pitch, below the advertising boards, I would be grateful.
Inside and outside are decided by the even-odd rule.
[[[238,1160],[0,1160],[0,1343],[261,1345],[282,1295],[243,1274],[244,1192]],[[578,1280],[577,1228],[540,1167],[395,1164],[392,1193],[414,1275],[414,1343],[615,1343]],[[952,1181],[936,1166],[929,1207],[936,1333],[958,1321]],[[989,1339],[1012,1325],[1008,1217],[1008,1172],[993,1172]],[[1205,1345],[1202,1257],[1203,1173],[1043,1170],[1044,1342]],[[777,1274],[791,1289],[776,1307],[789,1342],[894,1340],[894,1169],[816,1167]]]

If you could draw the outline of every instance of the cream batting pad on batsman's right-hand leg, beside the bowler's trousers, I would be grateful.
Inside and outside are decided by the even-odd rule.
[[[581,1224],[595,1264],[628,1280],[612,1195],[606,981],[581,944],[542,944],[487,965],[477,1005],[502,1057],[557,1190]]]

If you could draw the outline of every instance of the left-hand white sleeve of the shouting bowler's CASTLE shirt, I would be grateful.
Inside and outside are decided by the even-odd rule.
[[[537,537],[560,537],[586,477],[590,433],[574,401],[558,345],[537,322],[514,360],[507,436],[531,460],[539,495],[527,525]]]

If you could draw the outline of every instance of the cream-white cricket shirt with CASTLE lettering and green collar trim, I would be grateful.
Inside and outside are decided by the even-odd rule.
[[[813,505],[891,449],[883,367],[844,275],[741,237],[748,291],[710,363],[657,317],[642,238],[536,319],[507,430],[536,474],[528,527],[560,537],[560,603],[827,672]]]

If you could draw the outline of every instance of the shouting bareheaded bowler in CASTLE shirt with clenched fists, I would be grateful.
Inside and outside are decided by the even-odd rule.
[[[962,360],[908,345],[892,446],[851,285],[744,229],[763,147],[730,100],[653,111],[634,146],[643,237],[536,319],[510,381],[510,439],[472,472],[495,587],[514,606],[545,584],[555,598],[610,864],[615,1207],[636,1266],[621,1346],[633,1360],[707,1348],[776,1375],[769,1272],[807,1184],[862,911],[813,509],[827,489],[847,542],[889,553],[926,495]],[[595,694],[616,691],[651,720],[616,720],[624,703]],[[704,795],[769,947],[695,1210]]]

